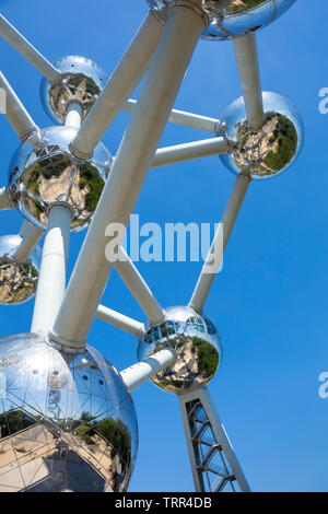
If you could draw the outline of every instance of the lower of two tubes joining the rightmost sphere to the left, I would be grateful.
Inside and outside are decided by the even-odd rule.
[[[191,161],[192,159],[208,157],[227,153],[227,142],[224,138],[204,139],[174,147],[160,148],[152,161],[151,167],[166,166]]]

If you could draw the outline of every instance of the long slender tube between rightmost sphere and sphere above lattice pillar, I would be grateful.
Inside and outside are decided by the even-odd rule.
[[[198,312],[201,312],[203,309],[203,306],[209,295],[213,280],[220,267],[223,253],[225,250],[233,226],[235,224],[235,221],[237,219],[245,195],[247,192],[249,183],[250,183],[249,176],[243,175],[243,174],[238,175],[235,180],[235,184],[234,184],[232,194],[230,196],[229,202],[225,207],[221,223],[216,230],[213,242],[211,244],[211,248],[208,253],[208,256],[206,258],[198,282],[194,290],[191,300],[189,302],[189,306],[195,308]],[[215,256],[215,265],[214,266],[211,265],[211,272],[209,272],[209,267],[210,267],[210,264],[212,264],[213,261],[213,256]]]

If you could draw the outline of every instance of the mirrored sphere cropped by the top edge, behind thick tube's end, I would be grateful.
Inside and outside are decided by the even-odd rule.
[[[167,8],[174,0],[147,0],[160,21],[165,22]],[[269,25],[296,0],[202,0],[209,25],[203,39],[230,39]]]

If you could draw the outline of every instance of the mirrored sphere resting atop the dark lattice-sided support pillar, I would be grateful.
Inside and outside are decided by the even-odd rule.
[[[221,362],[222,342],[215,325],[191,307],[166,309],[161,325],[145,325],[145,335],[138,339],[138,359],[147,359],[163,348],[174,348],[175,363],[162,370],[153,383],[167,393],[183,393],[210,382]]]

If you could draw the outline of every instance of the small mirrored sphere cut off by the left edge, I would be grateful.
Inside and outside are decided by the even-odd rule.
[[[25,262],[16,262],[14,254],[22,242],[19,235],[0,237],[0,304],[17,305],[36,293],[40,266],[40,248],[36,247]]]

